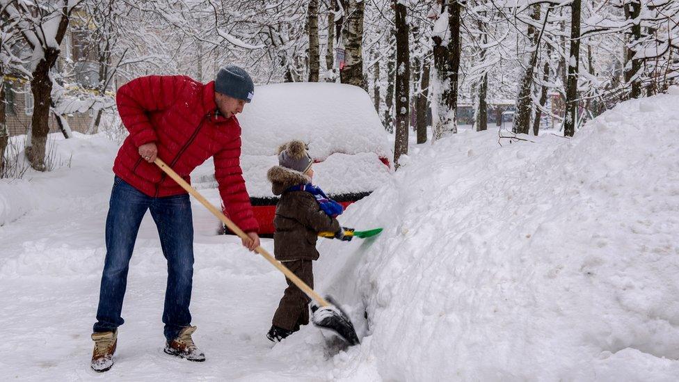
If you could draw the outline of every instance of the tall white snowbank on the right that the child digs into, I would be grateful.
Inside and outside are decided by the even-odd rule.
[[[572,140],[468,132],[411,150],[340,219],[381,236],[319,246],[319,290],[366,336],[332,376],[676,380],[677,104],[625,102]],[[278,354],[317,342],[305,333]]]

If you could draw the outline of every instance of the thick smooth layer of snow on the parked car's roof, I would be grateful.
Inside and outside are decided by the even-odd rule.
[[[319,161],[330,154],[374,152],[390,158],[388,134],[362,88],[342,83],[274,83],[255,87],[238,116],[243,155],[275,155],[299,139]]]

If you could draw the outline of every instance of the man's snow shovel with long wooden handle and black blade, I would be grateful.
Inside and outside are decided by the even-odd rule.
[[[177,173],[175,173],[175,171],[170,168],[170,166],[165,164],[165,162],[159,158],[156,158],[154,163],[157,164],[158,167],[160,167],[161,170],[163,170],[166,174],[170,175],[170,177],[175,180],[179,186],[182,186],[186,192],[198,199],[202,205],[209,209],[209,211],[212,212],[214,216],[217,216],[217,218],[221,220],[222,223],[224,223],[232,232],[237,234],[241,239],[250,239],[250,237],[248,237],[248,235],[243,232],[243,230],[238,228],[238,226],[235,225],[230,218],[227,218],[219,209],[214,207],[214,205],[208,202],[207,199],[203,198],[203,196],[200,195],[198,191],[196,191],[190,184],[186,183],[186,181],[177,175]],[[297,285],[299,289],[302,289],[302,291],[306,293],[307,296],[311,297],[317,302],[318,308],[312,307],[312,322],[314,325],[334,331],[337,333],[337,335],[340,335],[340,337],[342,337],[342,339],[350,346],[360,344],[358,335],[356,335],[356,329],[353,328],[353,324],[351,324],[349,316],[347,316],[346,313],[344,313],[340,308],[328,302],[328,300],[333,301],[332,299],[329,297],[328,299],[323,299],[320,294],[314,292],[314,289],[311,289],[309,285],[306,285],[305,282],[300,280],[300,278],[287,269],[285,265],[276,261],[273,256],[271,256],[264,248],[262,248],[262,246],[255,248],[255,251],[259,253],[259,255],[262,255],[268,262],[273,264],[273,266],[275,266],[279,271],[285,274],[285,277],[294,282],[294,284]]]

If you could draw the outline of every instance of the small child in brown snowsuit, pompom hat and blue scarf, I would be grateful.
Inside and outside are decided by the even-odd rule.
[[[280,195],[276,205],[273,226],[273,254],[307,285],[314,287],[312,260],[318,260],[316,240],[321,231],[337,232],[335,238],[351,240],[344,236],[347,228],[340,227],[335,216],[342,214],[342,205],[328,199],[311,184],[313,160],[302,141],[291,141],[278,148],[278,164],[266,173],[274,195]],[[287,279],[286,279],[287,280]],[[287,280],[278,309],[266,337],[273,342],[309,324],[309,297]]]

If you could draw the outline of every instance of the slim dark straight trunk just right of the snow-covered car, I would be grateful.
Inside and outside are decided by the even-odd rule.
[[[394,26],[396,28],[396,138],[394,140],[394,168],[399,168],[399,158],[408,154],[408,109],[410,106],[410,51],[406,22],[406,6],[394,1]]]

